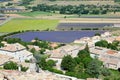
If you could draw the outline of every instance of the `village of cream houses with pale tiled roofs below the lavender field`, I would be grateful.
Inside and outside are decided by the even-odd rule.
[[[105,33],[101,34],[100,36],[96,35],[93,37],[83,37],[81,39],[75,40],[71,44],[66,44],[61,47],[54,48],[52,50],[46,49],[44,51],[44,54],[49,55],[46,60],[53,60],[56,62],[55,63],[56,65],[54,66],[55,69],[62,70],[61,62],[62,62],[62,59],[64,56],[70,55],[74,58],[78,55],[78,52],[80,50],[83,50],[85,48],[85,46],[88,45],[89,50],[90,50],[90,56],[92,58],[97,57],[100,61],[103,62],[103,66],[106,68],[120,70],[120,51],[108,49],[105,47],[95,46],[95,43],[98,41],[101,41],[101,40],[106,40],[107,42],[112,43],[113,41],[120,41],[120,36],[112,36],[112,34],[110,32],[105,32]],[[32,42],[34,42],[34,41],[35,40],[32,40]],[[64,78],[65,80],[79,80],[74,77],[72,78],[69,76],[59,75],[56,73],[53,74],[49,71],[46,72],[42,69],[39,69],[36,66],[33,53],[30,52],[30,50],[29,50],[30,48],[31,49],[34,48],[35,50],[39,51],[40,50],[39,46],[28,45],[29,49],[27,49],[25,46],[21,45],[20,43],[9,44],[6,41],[1,41],[1,43],[4,44],[4,46],[0,48],[0,58],[1,58],[0,66],[1,67],[3,67],[5,63],[11,62],[11,61],[16,62],[18,65],[28,67],[27,72],[21,72],[20,67],[18,67],[18,71],[10,71],[11,73],[15,72],[14,74],[17,73],[18,75],[20,75],[21,76],[20,79],[18,79],[17,76],[14,77],[13,76],[14,74],[11,74],[12,76],[8,77],[10,75],[8,73],[9,71],[2,70],[1,76],[10,78],[10,79],[6,78],[7,80],[12,80],[12,77],[14,77],[14,79],[16,78],[15,80],[21,80],[21,79],[27,80],[30,75],[34,75],[34,74],[36,74],[36,76],[37,75],[39,76],[41,74],[42,75],[48,74],[48,75],[54,76],[54,77],[50,77],[49,80],[53,80],[56,77],[57,77],[57,79],[55,79],[55,80],[59,80],[58,77],[60,77],[61,79]],[[51,46],[56,47],[57,43],[52,43]],[[120,44],[119,44],[119,47],[120,47]],[[30,63],[26,62],[26,61],[31,61],[31,60],[32,60],[32,62],[30,62]],[[39,73],[37,73],[37,71]],[[24,77],[22,77],[22,74],[26,74],[26,77],[25,77],[25,75],[24,75]],[[28,76],[28,78],[27,78],[27,76]],[[47,75],[44,75],[44,78],[45,78],[45,76],[47,76]],[[43,80],[42,77],[40,77],[40,78],[41,78],[41,80]],[[35,77],[34,79],[37,79],[37,77]],[[33,79],[31,79],[31,80],[33,80]],[[80,80],[82,80],[82,79],[80,79]],[[93,80],[93,79],[88,78],[87,80]],[[98,79],[94,79],[94,80],[98,80]]]

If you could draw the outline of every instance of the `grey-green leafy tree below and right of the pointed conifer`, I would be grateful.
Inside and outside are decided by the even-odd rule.
[[[86,72],[91,75],[91,77],[98,78],[100,75],[101,66],[102,63],[98,59],[94,59],[88,64]]]

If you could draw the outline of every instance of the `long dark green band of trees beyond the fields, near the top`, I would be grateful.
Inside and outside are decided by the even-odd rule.
[[[44,12],[55,12],[59,11],[60,14],[106,14],[109,11],[120,11],[120,6],[110,6],[110,5],[67,5],[67,6],[58,6],[58,5],[47,5],[39,4],[32,7],[32,11],[44,11]]]

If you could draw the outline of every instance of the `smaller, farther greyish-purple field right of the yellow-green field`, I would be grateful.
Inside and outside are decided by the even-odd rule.
[[[112,27],[112,23],[60,23],[57,27],[59,30],[80,29],[80,28],[103,28]]]

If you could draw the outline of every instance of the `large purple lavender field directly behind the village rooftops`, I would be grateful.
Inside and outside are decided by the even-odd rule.
[[[51,42],[70,43],[82,37],[92,37],[95,33],[104,33],[105,31],[42,31],[25,32],[10,36],[11,38],[21,38],[23,41],[31,41],[34,38],[47,40]]]

